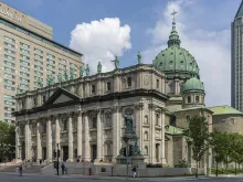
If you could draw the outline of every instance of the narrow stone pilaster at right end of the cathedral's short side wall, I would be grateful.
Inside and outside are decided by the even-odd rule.
[[[161,130],[161,147],[160,147],[160,149],[161,149],[161,153],[160,153],[160,157],[161,157],[161,162],[162,163],[167,163],[166,162],[166,135],[165,135],[165,121],[166,121],[166,114],[165,114],[165,110],[162,109],[161,110],[161,121],[160,121],[160,124],[161,124],[161,128],[162,128],[162,130]]]

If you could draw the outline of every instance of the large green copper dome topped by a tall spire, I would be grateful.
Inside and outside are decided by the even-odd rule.
[[[184,49],[180,47],[180,39],[172,24],[168,47],[161,51],[152,62],[154,66],[166,75],[189,75],[193,73],[199,77],[199,67],[194,57]]]

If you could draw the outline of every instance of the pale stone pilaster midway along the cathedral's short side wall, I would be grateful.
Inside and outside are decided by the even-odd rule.
[[[150,117],[150,137],[149,137],[149,142],[150,142],[150,154],[149,154],[149,158],[150,158],[150,163],[156,163],[156,137],[155,137],[155,133],[156,133],[156,115],[155,115],[155,109],[156,109],[156,106],[154,104],[149,104],[149,117]]]

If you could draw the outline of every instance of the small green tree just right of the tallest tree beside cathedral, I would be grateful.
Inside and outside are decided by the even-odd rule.
[[[222,132],[214,130],[212,133],[210,133],[210,146],[212,147],[213,152],[215,152],[214,160],[216,162],[216,176],[218,176],[218,167],[219,163],[223,161],[225,158],[225,141]]]

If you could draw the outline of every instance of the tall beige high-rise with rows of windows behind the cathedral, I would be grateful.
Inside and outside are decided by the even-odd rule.
[[[82,54],[53,41],[52,28],[0,2],[0,120],[14,122],[14,95],[46,85],[50,75],[77,76]]]

